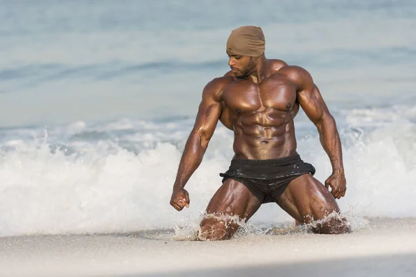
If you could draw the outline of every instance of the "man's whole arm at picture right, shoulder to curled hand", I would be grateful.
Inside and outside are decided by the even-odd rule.
[[[332,174],[325,181],[333,197],[340,199],[347,190],[343,166],[343,151],[336,122],[308,71],[299,66],[285,66],[285,75],[297,84],[297,100],[306,116],[318,128],[320,143],[331,161]]]

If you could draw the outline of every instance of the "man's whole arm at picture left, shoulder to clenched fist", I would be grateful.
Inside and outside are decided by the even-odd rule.
[[[171,205],[177,211],[181,211],[184,206],[189,206],[189,195],[184,190],[184,186],[193,172],[200,166],[209,140],[214,134],[222,111],[220,95],[224,84],[224,78],[214,79],[205,86],[202,92],[202,101],[200,102],[196,121],[185,144],[175,184],[173,184]]]

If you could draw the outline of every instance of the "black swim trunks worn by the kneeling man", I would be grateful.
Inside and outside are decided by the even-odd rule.
[[[277,202],[288,184],[295,178],[309,173],[315,168],[305,163],[298,154],[268,160],[235,159],[225,173],[225,180],[231,178],[244,184],[261,203]]]

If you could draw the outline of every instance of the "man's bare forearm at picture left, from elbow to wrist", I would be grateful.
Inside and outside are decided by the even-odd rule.
[[[198,132],[191,132],[185,144],[173,189],[184,188],[193,172],[200,166],[205,150],[207,150],[207,143],[202,143],[202,137]]]

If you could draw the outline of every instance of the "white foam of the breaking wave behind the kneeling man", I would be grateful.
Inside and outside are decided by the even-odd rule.
[[[6,140],[3,145],[13,150],[0,152],[0,235],[125,232],[173,228],[198,219],[220,186],[218,173],[229,166],[232,132],[218,126],[204,161],[187,184],[191,206],[178,213],[169,200],[191,120],[120,124],[121,128],[105,123],[96,129],[123,132],[123,126],[134,127],[136,133],[120,133],[119,140],[131,139],[135,151],[112,139],[67,141],[55,148],[53,142],[68,134],[62,126],[49,133],[34,130],[35,140]],[[85,123],[68,127],[70,133],[87,128],[94,131]],[[408,120],[395,120],[372,131],[340,131],[347,195],[338,203],[356,225],[363,225],[362,217],[416,217],[415,128]],[[139,137],[148,144],[138,143]],[[300,139],[298,151],[317,168],[315,177],[323,183],[331,166],[318,137]],[[280,224],[293,219],[277,205],[266,204],[250,222]]]

